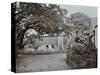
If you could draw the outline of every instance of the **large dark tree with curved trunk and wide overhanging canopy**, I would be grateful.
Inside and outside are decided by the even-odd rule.
[[[28,29],[35,29],[39,34],[59,33],[59,26],[64,25],[67,10],[55,4],[23,3],[15,4],[17,47],[23,48],[23,38]]]

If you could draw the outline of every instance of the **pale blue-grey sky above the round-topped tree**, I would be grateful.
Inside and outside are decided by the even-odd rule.
[[[60,7],[68,10],[67,16],[76,12],[82,12],[89,17],[97,17],[97,7],[95,6],[60,5]]]

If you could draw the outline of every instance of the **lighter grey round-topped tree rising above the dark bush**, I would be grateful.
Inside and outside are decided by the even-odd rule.
[[[89,37],[91,19],[78,12],[71,15],[71,23],[73,24],[73,33],[86,42]]]

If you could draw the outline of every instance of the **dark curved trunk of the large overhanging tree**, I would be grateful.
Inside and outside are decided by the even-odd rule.
[[[17,35],[17,38],[16,38],[17,49],[24,48],[23,39],[24,39],[24,34],[26,31],[27,31],[27,29],[24,29]]]

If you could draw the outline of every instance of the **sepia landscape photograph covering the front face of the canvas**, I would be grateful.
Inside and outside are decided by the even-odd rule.
[[[97,68],[97,7],[15,2],[16,72]]]

